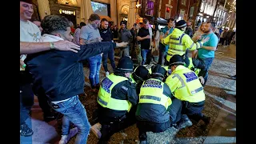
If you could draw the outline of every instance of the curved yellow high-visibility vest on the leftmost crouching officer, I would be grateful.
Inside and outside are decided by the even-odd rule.
[[[128,100],[111,98],[113,87],[126,80],[128,78],[114,74],[110,74],[107,78],[104,78],[98,91],[98,104],[110,110],[127,110],[129,112],[132,104]]]

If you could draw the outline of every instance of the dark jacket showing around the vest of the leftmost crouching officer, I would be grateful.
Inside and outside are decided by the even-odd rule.
[[[132,109],[138,104],[138,94],[136,93],[136,84],[131,80],[119,82],[111,90],[111,98],[128,100],[132,104]],[[100,105],[98,110],[98,118],[101,123],[114,122],[117,118],[121,118],[127,113],[126,110],[110,110]]]

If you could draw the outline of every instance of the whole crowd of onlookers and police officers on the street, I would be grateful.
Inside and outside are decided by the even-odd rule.
[[[210,123],[202,110],[206,99],[203,87],[219,42],[213,22],[202,22],[193,32],[190,22],[170,18],[168,25],[158,30],[158,24],[151,27],[144,18],[131,30],[122,21],[118,30],[109,26],[106,18],[91,14],[87,24],[81,22],[74,29],[63,16],[47,15],[40,22],[31,20],[32,14],[32,1],[20,0],[22,136],[34,133],[25,122],[34,94],[44,121],[62,118],[59,144],[75,135],[75,143],[84,144],[90,130],[98,143],[106,143],[114,133],[135,123],[140,142],[146,143],[147,131],[158,133],[171,126],[180,130],[200,120]],[[220,33],[221,42],[225,34]],[[230,38],[225,39],[227,44]],[[120,49],[122,56],[117,66],[115,49]],[[78,98],[84,93],[85,61],[90,65],[90,88],[98,92],[98,118],[93,126]],[[106,74],[102,81],[101,65]],[[75,127],[70,129],[70,123]]]

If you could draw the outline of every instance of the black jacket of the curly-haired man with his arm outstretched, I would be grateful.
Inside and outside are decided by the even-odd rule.
[[[95,42],[81,46],[78,53],[47,50],[28,54],[26,68],[32,75],[34,93],[42,88],[50,102],[84,93],[82,61],[115,47],[114,42]],[[37,94],[36,94],[37,95]]]

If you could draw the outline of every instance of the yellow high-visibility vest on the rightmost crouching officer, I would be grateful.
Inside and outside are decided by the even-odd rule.
[[[182,86],[174,91],[175,98],[188,102],[202,102],[206,99],[202,84],[194,71],[182,66],[182,70],[174,71],[174,74],[170,74],[169,77],[177,77],[182,83]]]

